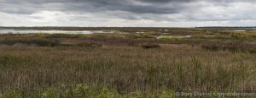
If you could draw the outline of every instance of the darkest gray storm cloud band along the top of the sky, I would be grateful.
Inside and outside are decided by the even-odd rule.
[[[135,14],[177,14],[191,8],[186,3],[200,1],[241,2],[241,0],[2,0],[0,11],[10,14],[32,14],[40,10],[80,12],[119,10]],[[243,0],[242,2],[253,2],[253,0]],[[60,5],[54,6],[55,3]],[[52,6],[47,7],[47,4],[52,4]]]

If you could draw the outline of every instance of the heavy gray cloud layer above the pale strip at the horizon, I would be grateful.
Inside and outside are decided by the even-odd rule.
[[[33,22],[58,17],[84,22],[148,20],[154,23],[189,23],[255,20],[254,6],[255,0],[0,0],[0,13],[9,14],[9,18],[17,20],[20,14],[20,17]],[[58,12],[62,16],[52,14]],[[52,15],[51,18],[46,13]]]

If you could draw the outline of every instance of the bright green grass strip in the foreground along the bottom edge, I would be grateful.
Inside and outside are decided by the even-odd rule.
[[[38,98],[141,98],[141,97],[168,97],[174,98],[174,91],[172,90],[160,90],[158,93],[135,91],[126,94],[120,94],[117,90],[108,89],[108,87],[96,87],[88,86],[86,84],[73,84],[46,88],[43,90],[34,91],[22,91],[22,90],[9,90],[0,94],[0,98],[26,98],[26,97],[38,97]]]

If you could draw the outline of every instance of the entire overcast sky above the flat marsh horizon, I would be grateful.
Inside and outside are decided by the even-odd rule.
[[[256,26],[256,0],[0,0],[0,26]]]

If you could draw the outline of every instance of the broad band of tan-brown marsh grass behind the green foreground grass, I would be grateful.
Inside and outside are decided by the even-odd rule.
[[[59,90],[57,84],[95,85],[115,90],[118,95],[136,91],[157,95],[164,88],[255,89],[254,54],[208,52],[189,46],[154,50],[136,46],[95,49],[3,46],[0,53],[1,92],[21,90],[22,95],[52,87]]]

